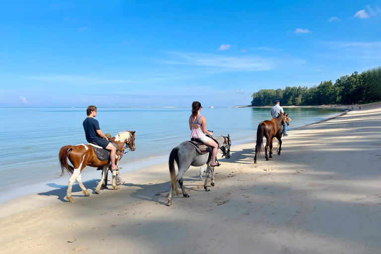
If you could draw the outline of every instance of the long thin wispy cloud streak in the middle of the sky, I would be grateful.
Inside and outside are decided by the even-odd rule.
[[[184,64],[198,67],[214,68],[216,72],[224,71],[260,71],[275,69],[285,63],[304,64],[296,59],[265,58],[256,56],[220,56],[210,54],[170,52],[176,60],[163,60],[164,64]]]

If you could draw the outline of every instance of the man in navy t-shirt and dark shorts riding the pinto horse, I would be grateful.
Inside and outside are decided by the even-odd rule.
[[[99,123],[94,118],[97,116],[97,107],[88,106],[86,110],[87,118],[83,121],[83,129],[85,130],[86,140],[91,143],[94,142],[101,146],[103,149],[110,151],[111,170],[118,170],[115,164],[115,157],[117,148],[110,143],[109,139],[103,134]]]

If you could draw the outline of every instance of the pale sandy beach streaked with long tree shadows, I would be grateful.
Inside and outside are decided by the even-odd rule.
[[[381,105],[361,107],[288,131],[270,161],[232,137],[215,187],[191,167],[172,206],[167,163],[1,204],[0,253],[380,254]]]

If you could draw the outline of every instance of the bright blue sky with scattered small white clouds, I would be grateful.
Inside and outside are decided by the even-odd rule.
[[[249,105],[381,65],[381,0],[0,3],[0,107]]]

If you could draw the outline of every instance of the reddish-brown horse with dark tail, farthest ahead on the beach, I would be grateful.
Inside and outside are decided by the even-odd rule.
[[[269,160],[269,157],[272,158],[272,140],[276,137],[279,141],[279,150],[278,155],[280,155],[280,151],[282,150],[282,134],[283,134],[283,125],[288,117],[288,114],[285,113],[280,114],[277,118],[273,118],[270,121],[265,120],[259,123],[258,128],[256,130],[256,145],[255,145],[255,156],[254,163],[256,163],[256,155],[258,153],[263,152],[263,137],[266,138],[266,145],[264,147],[264,155],[266,157],[266,161]],[[269,148],[269,157],[267,157],[267,149]]]

